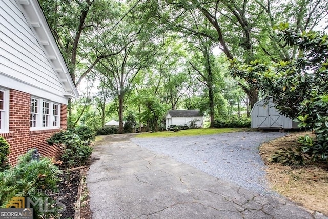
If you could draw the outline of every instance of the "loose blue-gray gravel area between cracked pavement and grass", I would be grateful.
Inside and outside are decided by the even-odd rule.
[[[265,182],[261,143],[285,136],[279,132],[234,132],[170,138],[133,138],[150,151],[168,155],[217,178],[263,195],[274,194]]]

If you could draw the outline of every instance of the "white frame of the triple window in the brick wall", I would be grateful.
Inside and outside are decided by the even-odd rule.
[[[57,129],[60,128],[60,104],[56,102],[49,101],[47,99],[42,99],[38,97],[32,96],[31,99],[36,99],[37,100],[37,112],[36,114],[36,126],[35,127],[30,127],[31,131],[36,131],[36,130],[47,130],[47,129]],[[49,104],[49,112],[44,111],[44,103]],[[54,109],[53,106],[57,105],[58,106],[58,115],[57,116],[57,124],[54,126]],[[32,112],[30,112],[32,114]],[[45,124],[44,116],[47,116],[47,124]],[[47,125],[47,126],[46,126]]]

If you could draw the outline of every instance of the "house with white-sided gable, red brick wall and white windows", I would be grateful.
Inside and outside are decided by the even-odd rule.
[[[37,0],[0,0],[0,135],[9,162],[30,148],[58,158],[46,139],[67,129],[78,92]]]

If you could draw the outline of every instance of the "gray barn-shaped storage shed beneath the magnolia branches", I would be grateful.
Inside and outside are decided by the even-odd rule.
[[[298,129],[297,122],[291,118],[281,115],[275,108],[274,103],[270,99],[265,99],[254,104],[251,111],[252,128],[260,129]]]

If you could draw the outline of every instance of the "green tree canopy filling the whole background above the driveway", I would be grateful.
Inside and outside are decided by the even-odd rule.
[[[157,131],[167,110],[200,109],[213,127],[217,118],[249,116],[254,103],[268,94],[263,87],[270,80],[270,92],[279,93],[274,85],[286,84],[276,102],[295,117],[313,94],[294,92],[290,85],[303,78],[297,85],[313,91],[309,78],[325,67],[314,65],[324,50],[313,41],[328,28],[328,6],[320,0],[39,2],[84,94],[69,106],[73,126],[96,128],[115,119],[121,133],[133,116],[137,127]],[[283,38],[276,29],[286,29],[286,23],[293,31]],[[306,56],[310,50],[300,46],[300,37],[308,37],[316,56]],[[307,67],[300,71],[300,66]],[[278,71],[290,77],[279,81],[273,73]]]

